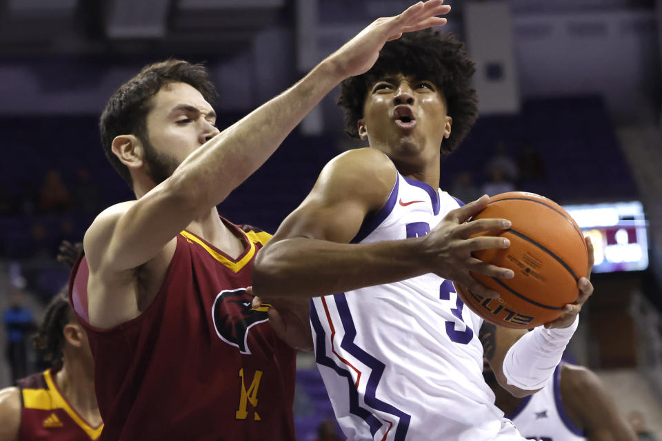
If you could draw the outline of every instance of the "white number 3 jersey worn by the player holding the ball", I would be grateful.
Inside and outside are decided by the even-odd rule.
[[[352,243],[424,236],[457,200],[397,176]],[[317,365],[348,440],[521,441],[483,380],[483,319],[434,274],[312,299]]]

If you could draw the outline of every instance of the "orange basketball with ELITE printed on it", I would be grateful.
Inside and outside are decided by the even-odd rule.
[[[510,247],[480,250],[474,256],[510,268],[515,276],[472,273],[501,297],[484,298],[456,284],[465,305],[488,322],[510,328],[532,328],[559,318],[563,307],[579,296],[577,282],[588,271],[584,236],[570,214],[538,194],[510,192],[492,196],[488,207],[474,216],[481,218],[510,220],[510,229],[499,234],[510,240]],[[483,234],[488,233],[476,236]]]

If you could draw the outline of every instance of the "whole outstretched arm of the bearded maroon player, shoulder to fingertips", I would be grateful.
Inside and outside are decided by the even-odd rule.
[[[133,269],[156,257],[182,229],[225,199],[276,150],[314,105],[348,76],[374,64],[390,39],[443,25],[450,6],[419,2],[377,19],[301,81],[190,154],[170,178],[132,203],[103,212],[85,238],[90,270]]]

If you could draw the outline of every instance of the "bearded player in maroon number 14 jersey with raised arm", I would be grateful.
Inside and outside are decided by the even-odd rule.
[[[70,283],[94,356],[101,439],[294,439],[290,346],[302,342],[279,339],[245,290],[269,236],[215,206],[335,85],[368,70],[385,41],[443,25],[436,16],[448,10],[430,0],[374,21],[222,133],[197,65],[150,65],[111,97],[103,147],[137,200],[97,216]],[[290,336],[307,342],[303,325]]]

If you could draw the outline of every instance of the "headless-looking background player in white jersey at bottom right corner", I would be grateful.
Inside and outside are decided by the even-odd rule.
[[[545,387],[525,398],[505,391],[483,371],[496,404],[526,438],[536,441],[636,441],[636,434],[595,373],[561,362]]]

